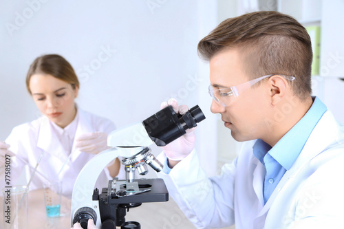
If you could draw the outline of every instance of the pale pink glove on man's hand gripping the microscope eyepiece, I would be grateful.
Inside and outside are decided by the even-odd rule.
[[[178,107],[178,102],[174,98],[169,99],[168,102],[162,102],[160,108],[164,109],[169,105],[173,107],[175,113],[184,114],[186,111],[189,111],[189,108],[186,105],[180,105]],[[166,146],[162,146],[162,150],[169,160],[180,161],[193,151],[196,140],[195,133],[193,131],[194,129],[195,128],[186,130],[186,134],[182,135],[182,137],[174,140]]]

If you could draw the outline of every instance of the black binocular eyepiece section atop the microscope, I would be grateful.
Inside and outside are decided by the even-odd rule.
[[[186,133],[187,129],[197,127],[204,120],[204,113],[196,105],[183,115],[176,114],[171,106],[165,107],[142,123],[149,137],[157,146],[166,146]]]

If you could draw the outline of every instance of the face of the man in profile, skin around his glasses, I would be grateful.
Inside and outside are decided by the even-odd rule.
[[[214,89],[224,89],[246,83],[243,58],[236,49],[224,50],[211,58],[210,80]],[[249,64],[249,63],[248,63]],[[266,80],[250,87],[235,98],[226,100],[226,107],[213,100],[211,111],[219,113],[224,126],[230,129],[233,138],[239,142],[262,138],[269,134],[266,118],[270,111],[270,95]]]

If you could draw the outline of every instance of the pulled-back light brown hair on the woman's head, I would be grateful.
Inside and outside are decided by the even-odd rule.
[[[80,87],[78,76],[76,76],[72,65],[60,55],[49,54],[37,57],[30,65],[28,74],[26,75],[26,88],[30,91],[30,78],[34,74],[49,74],[70,83],[72,88]]]

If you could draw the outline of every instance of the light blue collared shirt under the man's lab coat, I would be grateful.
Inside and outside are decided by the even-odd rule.
[[[314,98],[312,107],[305,116],[297,122],[280,140],[271,148],[263,140],[257,140],[253,146],[253,154],[264,164],[266,175],[264,179],[264,202],[270,198],[284,173],[292,167],[301,153],[314,127],[319,122],[327,107],[319,98]]]

